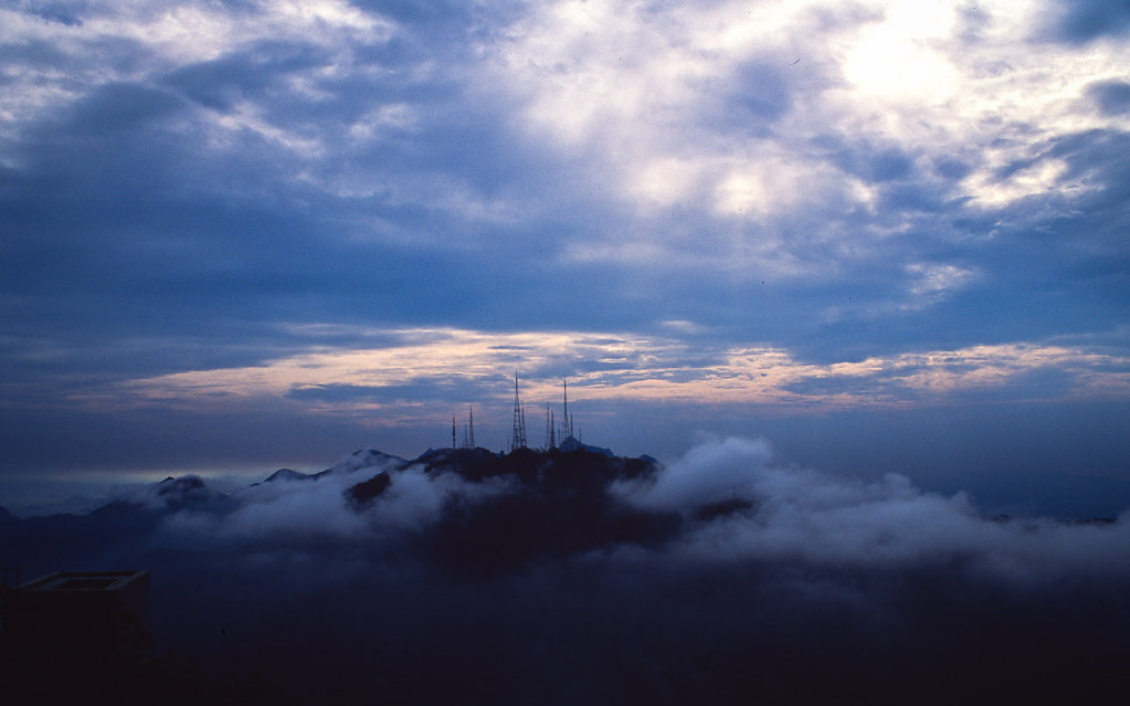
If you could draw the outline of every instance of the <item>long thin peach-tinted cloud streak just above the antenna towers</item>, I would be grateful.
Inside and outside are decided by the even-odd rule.
[[[923,297],[942,296],[967,277],[962,271],[923,269]],[[669,322],[686,330],[689,322]],[[383,332],[380,348],[312,350],[263,365],[175,373],[133,380],[72,400],[92,409],[160,406],[185,410],[259,409],[268,400],[304,406],[328,415],[370,415],[380,410],[386,425],[435,422],[450,403],[438,400],[443,385],[459,383],[486,403],[508,399],[503,381],[515,366],[542,369],[572,360],[599,364],[596,372],[572,376],[579,394],[590,400],[684,401],[710,404],[760,404],[858,409],[947,403],[962,395],[1005,393],[1015,399],[1046,391],[1029,390],[1025,376],[1055,372],[1068,381],[1055,391],[1062,399],[1112,399],[1130,394],[1130,360],[1084,348],[1041,343],[980,345],[875,356],[859,361],[815,364],[770,346],[707,351],[672,338],[583,331],[490,333],[460,329],[406,329]],[[694,350],[695,355],[689,355]],[[687,360],[690,360],[689,363]],[[382,399],[383,387],[436,385],[432,393],[407,393],[406,400]],[[368,387],[373,395],[355,400],[288,399],[293,391],[332,386]],[[556,400],[559,378],[527,378],[523,396]],[[1010,385],[1018,385],[1011,389]],[[436,407],[438,406],[438,408]]]

